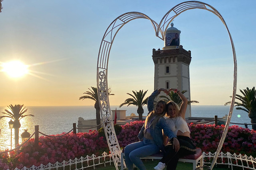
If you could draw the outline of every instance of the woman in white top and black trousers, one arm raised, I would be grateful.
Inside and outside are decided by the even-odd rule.
[[[154,167],[156,170],[164,169],[165,165],[167,165],[167,170],[175,170],[180,157],[194,154],[196,151],[196,147],[190,139],[190,131],[185,120],[188,99],[178,89],[171,88],[169,89],[169,92],[170,91],[177,92],[182,100],[180,108],[174,101],[169,101],[166,105],[166,123],[173,133],[177,135],[180,146],[174,148],[171,141],[167,143],[167,137],[164,135],[164,145],[167,143],[165,146],[165,154],[158,165]]]

